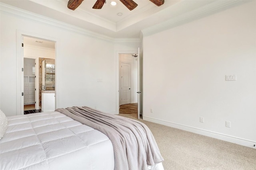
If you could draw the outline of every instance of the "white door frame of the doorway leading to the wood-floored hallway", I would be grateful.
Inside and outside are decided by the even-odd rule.
[[[120,64],[120,59],[119,59],[119,54],[137,54],[138,51],[116,51],[116,114],[119,114],[119,64]]]

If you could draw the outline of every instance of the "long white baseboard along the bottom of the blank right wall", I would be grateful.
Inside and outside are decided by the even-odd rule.
[[[143,120],[158,123],[158,124],[161,124],[161,125],[166,125],[166,126],[169,126],[169,127],[174,127],[174,128],[181,129],[181,130],[184,130],[184,131],[189,131],[189,132],[192,132],[192,133],[197,133],[197,134],[212,137],[212,138],[215,138],[215,139],[220,139],[222,141],[236,143],[238,145],[242,145],[242,146],[245,146],[245,147],[250,147],[250,148],[256,149],[256,147],[254,147],[254,145],[256,145],[256,141],[248,141],[246,139],[240,139],[240,138],[237,138],[237,137],[232,137],[232,136],[224,135],[224,134],[221,134],[221,133],[206,131],[206,130],[203,130],[203,129],[198,129],[198,128],[194,128],[194,127],[180,125],[180,124],[172,123],[172,122],[168,122],[168,121],[162,121],[162,120],[159,120],[159,119],[154,119],[154,118],[146,117],[146,116],[143,116]]]

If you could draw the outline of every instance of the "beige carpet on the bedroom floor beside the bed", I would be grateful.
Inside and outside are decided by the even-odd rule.
[[[119,114],[136,119],[136,114]],[[165,170],[256,170],[256,149],[144,121],[164,158]]]

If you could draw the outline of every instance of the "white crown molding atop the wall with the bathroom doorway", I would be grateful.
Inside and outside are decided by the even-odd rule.
[[[28,12],[26,10],[16,8],[14,6],[10,6],[10,5],[4,4],[2,2],[0,2],[0,11],[5,12],[7,14],[14,15],[14,16],[27,18],[29,20],[33,20],[33,21],[36,21],[36,22],[46,23],[46,24],[52,25],[54,27],[59,27],[61,29],[66,29],[68,31],[80,33],[80,34],[86,35],[87,37],[93,37],[93,38],[109,41],[109,42],[112,42],[112,43],[115,43],[115,42],[134,42],[134,41],[137,42],[138,41],[137,39],[134,39],[134,38],[131,38],[131,39],[129,39],[129,38],[127,38],[127,39],[112,38],[112,37],[109,37],[109,36],[106,36],[106,35],[103,35],[103,34],[100,34],[100,33],[96,33],[96,32],[93,32],[93,31],[89,31],[87,29],[83,29],[81,27],[77,27],[77,26],[74,26],[74,25],[71,25],[71,24],[68,24],[68,23],[64,23],[62,21],[54,20],[52,18],[48,18],[48,17],[41,16],[41,15],[38,15],[38,14],[35,14],[35,13],[32,13],[32,12]]]

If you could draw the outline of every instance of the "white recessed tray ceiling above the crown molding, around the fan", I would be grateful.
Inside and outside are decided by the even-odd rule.
[[[138,38],[143,29],[202,8],[216,0],[165,0],[156,6],[150,0],[134,0],[138,6],[130,11],[119,0],[110,1],[102,9],[92,9],[96,0],[84,0],[76,10],[67,8],[68,0],[0,0],[48,18],[62,21],[82,29],[112,38]],[[122,13],[122,16],[118,16]]]

